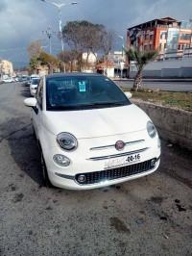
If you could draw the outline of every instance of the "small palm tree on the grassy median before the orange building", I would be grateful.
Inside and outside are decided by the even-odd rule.
[[[142,89],[142,71],[146,64],[149,64],[155,61],[156,56],[158,55],[158,50],[151,50],[143,52],[138,48],[131,47],[128,51],[125,50],[125,53],[129,61],[134,61],[137,67],[137,73],[134,78],[134,83],[132,90],[141,90]]]

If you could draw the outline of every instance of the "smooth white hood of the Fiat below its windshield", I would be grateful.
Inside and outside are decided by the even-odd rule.
[[[51,133],[73,134],[77,139],[112,136],[146,129],[150,118],[135,105],[81,111],[43,112]]]

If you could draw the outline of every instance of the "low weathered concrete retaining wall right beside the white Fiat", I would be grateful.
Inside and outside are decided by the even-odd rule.
[[[192,150],[192,113],[132,99],[156,125],[162,139]]]

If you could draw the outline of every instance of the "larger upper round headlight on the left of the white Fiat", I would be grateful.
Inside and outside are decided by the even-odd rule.
[[[60,147],[66,151],[73,151],[78,147],[77,139],[72,134],[68,133],[59,134],[57,136],[57,142]]]

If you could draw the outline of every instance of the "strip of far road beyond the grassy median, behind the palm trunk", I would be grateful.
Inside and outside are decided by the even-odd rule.
[[[122,81],[115,81],[115,83],[120,87],[125,88],[132,88],[133,80],[122,80]],[[159,89],[159,90],[173,90],[173,91],[190,91],[192,92],[192,82],[187,81],[162,81],[162,80],[144,80],[143,81],[143,88],[144,89]]]

